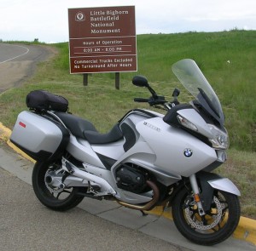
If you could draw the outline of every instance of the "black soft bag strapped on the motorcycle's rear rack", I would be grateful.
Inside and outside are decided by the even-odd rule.
[[[45,90],[34,90],[26,95],[26,106],[31,110],[64,111],[68,109],[68,101],[62,96],[51,94]]]

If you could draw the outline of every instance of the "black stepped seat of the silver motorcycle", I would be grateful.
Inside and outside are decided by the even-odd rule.
[[[55,112],[55,115],[61,119],[74,136],[88,140],[90,144],[108,144],[123,139],[119,123],[115,124],[107,134],[100,134],[93,123],[84,118],[66,112]]]

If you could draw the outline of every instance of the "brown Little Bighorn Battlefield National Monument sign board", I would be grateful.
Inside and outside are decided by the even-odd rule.
[[[137,71],[135,7],[68,9],[70,73]]]

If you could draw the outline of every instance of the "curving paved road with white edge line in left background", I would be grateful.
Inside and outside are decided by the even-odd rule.
[[[47,46],[0,43],[0,93],[19,86],[32,76],[38,62],[54,54]]]

